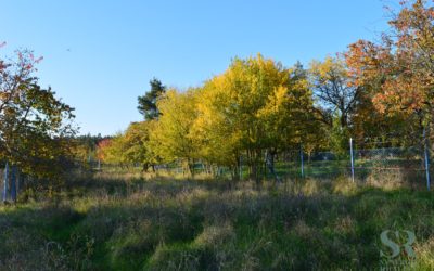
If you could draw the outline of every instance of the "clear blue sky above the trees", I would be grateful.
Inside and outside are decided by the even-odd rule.
[[[80,132],[113,134],[141,119],[152,77],[199,86],[258,52],[307,65],[379,38],[384,5],[397,0],[0,0],[0,55],[42,55],[40,82],[76,108]]]

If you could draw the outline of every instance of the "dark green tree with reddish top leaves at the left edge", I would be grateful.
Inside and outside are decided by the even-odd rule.
[[[0,60],[0,157],[37,177],[55,178],[67,165],[75,134],[73,108],[38,85],[30,51]]]

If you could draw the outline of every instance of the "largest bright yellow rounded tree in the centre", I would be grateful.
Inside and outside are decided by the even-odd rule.
[[[299,143],[302,127],[315,121],[306,78],[260,54],[234,59],[197,96],[195,130],[202,154],[237,168],[243,153],[253,179],[265,151],[272,160],[278,150]]]

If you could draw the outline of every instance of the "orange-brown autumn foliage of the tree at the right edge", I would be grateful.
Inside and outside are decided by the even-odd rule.
[[[382,42],[350,44],[346,61],[356,85],[373,85],[372,101],[381,113],[417,113],[427,120],[433,109],[434,8],[423,0],[400,4]]]

